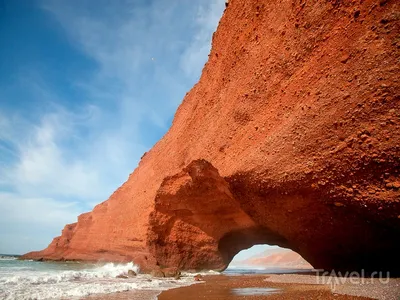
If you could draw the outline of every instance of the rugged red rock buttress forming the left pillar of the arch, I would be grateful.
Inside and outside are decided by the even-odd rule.
[[[225,269],[237,252],[262,243],[264,231],[242,210],[217,169],[196,160],[161,184],[148,245],[161,265]]]

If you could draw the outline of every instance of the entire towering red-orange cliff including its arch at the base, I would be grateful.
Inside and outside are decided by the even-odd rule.
[[[400,270],[400,3],[231,0],[171,129],[25,258],[224,269],[254,244]]]

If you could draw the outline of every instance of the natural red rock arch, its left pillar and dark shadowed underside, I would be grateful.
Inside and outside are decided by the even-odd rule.
[[[197,270],[223,270],[256,244],[290,248],[315,268],[381,270],[394,263],[386,255],[395,257],[395,241],[385,255],[379,250],[388,245],[370,241],[395,231],[291,184],[260,185],[249,174],[223,178],[209,162],[195,160],[161,184],[150,215],[150,252],[161,267]]]

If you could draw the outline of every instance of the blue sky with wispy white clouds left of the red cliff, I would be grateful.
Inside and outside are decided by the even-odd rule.
[[[223,0],[0,2],[0,253],[108,198],[198,80]]]

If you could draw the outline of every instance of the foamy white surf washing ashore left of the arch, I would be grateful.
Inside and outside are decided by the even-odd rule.
[[[193,274],[180,280],[152,278],[146,274],[128,279],[116,278],[129,270],[139,272],[133,263],[108,263],[84,270],[12,271],[7,276],[0,274],[0,299],[81,299],[92,294],[131,290],[162,291],[194,283]]]

